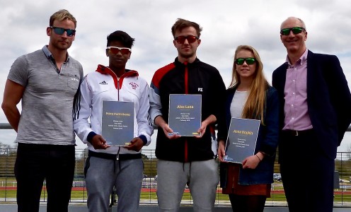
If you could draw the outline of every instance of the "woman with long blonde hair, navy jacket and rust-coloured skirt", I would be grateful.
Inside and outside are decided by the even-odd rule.
[[[255,155],[242,165],[221,163],[221,187],[229,194],[233,211],[263,211],[273,182],[275,151],[278,143],[278,95],[263,75],[263,64],[251,46],[238,46],[233,75],[226,91],[226,125],[231,117],[259,119],[260,129]],[[224,162],[225,143],[219,141],[219,160]]]

